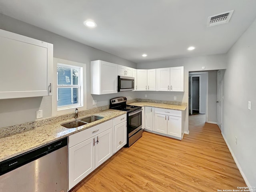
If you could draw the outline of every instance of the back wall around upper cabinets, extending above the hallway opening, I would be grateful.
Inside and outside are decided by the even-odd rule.
[[[164,67],[184,66],[184,92],[163,92],[158,95],[158,92],[142,92],[138,93],[138,98],[144,98],[147,93],[148,99],[174,101],[173,96],[177,96],[178,102],[186,102],[188,104],[188,72],[201,71],[202,66],[205,70],[226,69],[227,57],[226,54],[206,55],[190,58],[179,58],[152,62],[141,62],[137,64],[138,69],[154,69]],[[188,106],[186,110],[185,132],[188,131]]]

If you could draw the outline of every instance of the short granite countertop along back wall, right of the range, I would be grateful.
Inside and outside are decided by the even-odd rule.
[[[131,103],[130,105],[141,106],[141,107],[144,107],[144,106],[157,107],[157,108],[180,110],[180,111],[185,111],[187,108],[187,106],[185,105],[170,105],[170,104],[152,103],[152,102],[134,102],[134,103]]]

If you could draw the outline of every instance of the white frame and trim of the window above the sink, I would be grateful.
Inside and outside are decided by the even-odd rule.
[[[80,78],[78,81],[80,82],[80,105],[79,104],[73,104],[73,105],[68,105],[68,106],[61,106],[58,107],[58,102],[57,102],[57,97],[58,97],[58,76],[57,76],[57,65],[66,65],[66,66],[71,66],[74,68],[80,68]],[[72,113],[75,111],[75,108],[78,108],[79,111],[81,110],[86,110],[86,78],[83,76],[83,74],[86,74],[86,64],[84,63],[78,63],[74,61],[69,61],[69,60],[63,60],[60,58],[54,58],[53,62],[53,83],[52,83],[52,116],[56,115],[62,115],[62,114],[68,114]],[[70,80],[71,81],[71,80]],[[66,87],[66,86],[65,86]],[[79,93],[78,93],[79,94]],[[79,97],[79,96],[78,96]],[[47,99],[47,98],[46,98]]]

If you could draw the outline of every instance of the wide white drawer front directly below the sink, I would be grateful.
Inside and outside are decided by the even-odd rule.
[[[80,142],[83,142],[97,134],[100,134],[108,129],[112,128],[112,120],[90,127],[81,132],[75,133],[68,137],[68,147],[75,146]]]

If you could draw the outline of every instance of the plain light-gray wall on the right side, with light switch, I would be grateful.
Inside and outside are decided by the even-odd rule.
[[[222,134],[248,186],[256,186],[256,20],[228,51]],[[247,102],[252,102],[248,110]],[[235,144],[235,136],[237,144]]]

